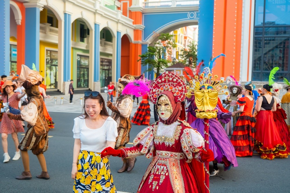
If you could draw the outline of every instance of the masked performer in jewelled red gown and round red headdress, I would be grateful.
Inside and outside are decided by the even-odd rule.
[[[175,74],[164,72],[150,88],[159,121],[142,130],[133,147],[106,148],[102,156],[153,157],[137,192],[204,192],[203,161],[212,161],[213,152],[205,151],[204,139],[196,129],[178,119],[186,85]],[[190,163],[191,162],[191,163]]]

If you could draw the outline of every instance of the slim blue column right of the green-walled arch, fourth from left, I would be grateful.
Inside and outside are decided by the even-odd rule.
[[[95,23],[94,82],[100,81],[100,25]]]

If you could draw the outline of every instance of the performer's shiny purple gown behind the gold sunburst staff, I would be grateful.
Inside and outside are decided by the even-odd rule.
[[[191,105],[188,111],[195,116],[195,110],[197,109],[194,102],[194,95],[191,97]],[[231,120],[231,112],[224,113],[220,110],[218,105],[216,108],[217,118],[222,123],[228,123]],[[229,170],[230,167],[238,166],[238,162],[235,156],[235,149],[229,140],[224,128],[216,119],[209,119],[209,148],[213,151],[215,160],[218,163],[224,163],[224,171]],[[204,119],[196,119],[190,126],[197,128],[197,131],[204,137]]]

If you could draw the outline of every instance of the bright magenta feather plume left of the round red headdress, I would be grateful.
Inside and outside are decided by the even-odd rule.
[[[129,82],[122,91],[122,94],[132,94],[136,97],[142,97],[150,92],[150,83],[148,79],[138,79]]]

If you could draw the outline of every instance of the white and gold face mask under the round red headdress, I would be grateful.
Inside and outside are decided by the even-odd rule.
[[[162,120],[167,120],[173,113],[171,103],[168,97],[162,95],[157,101],[157,113]]]

